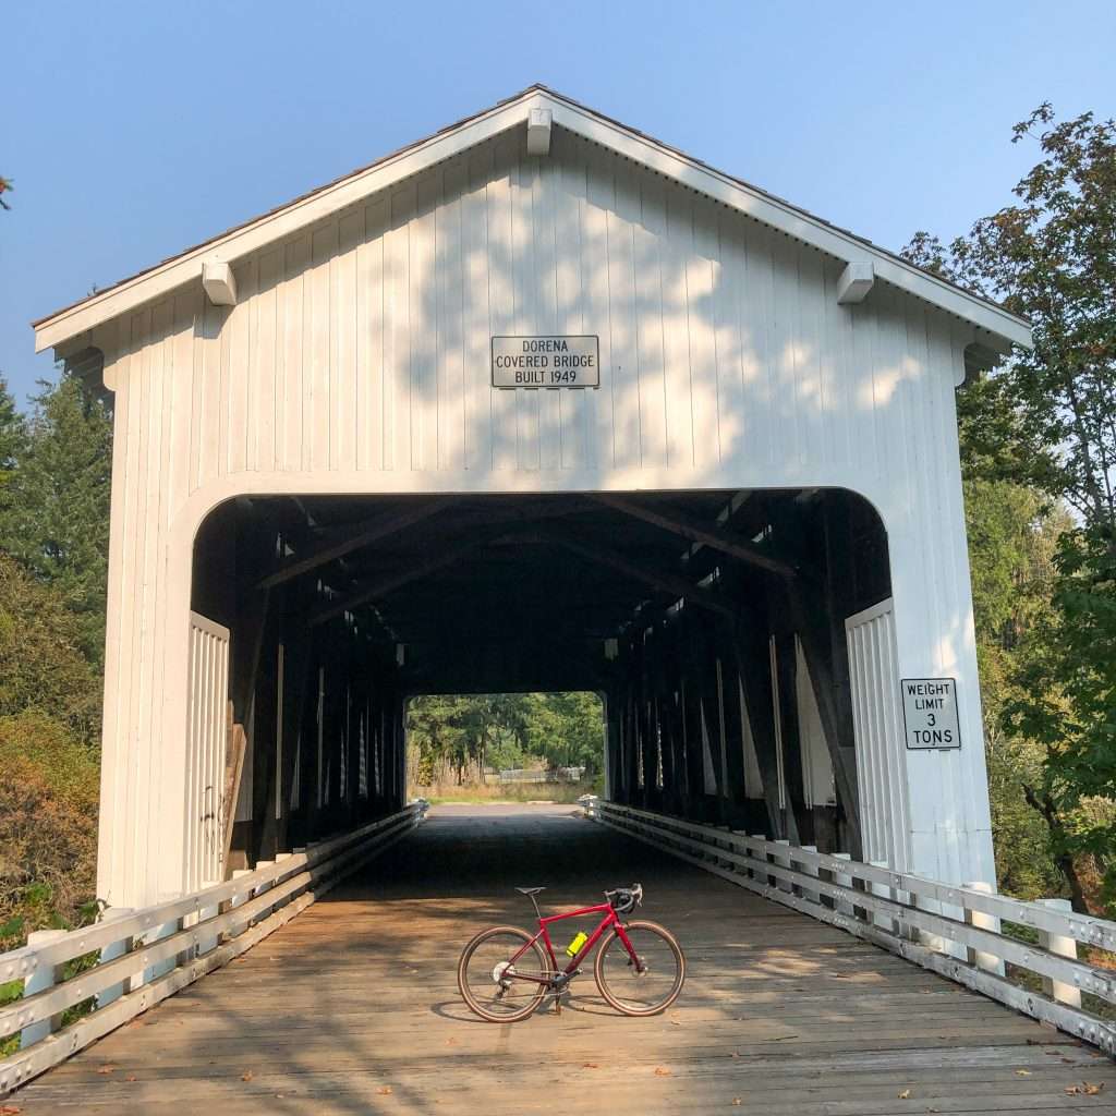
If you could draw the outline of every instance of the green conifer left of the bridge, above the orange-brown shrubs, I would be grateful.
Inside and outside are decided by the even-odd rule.
[[[0,503],[0,549],[58,589],[78,619],[81,652],[99,666],[112,425],[104,405],[68,376],[33,402]]]

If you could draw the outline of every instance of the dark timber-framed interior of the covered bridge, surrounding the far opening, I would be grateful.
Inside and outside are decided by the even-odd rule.
[[[192,652],[189,681],[243,741],[210,778],[239,782],[225,870],[397,809],[408,702],[496,693],[600,695],[613,800],[886,855],[889,597],[883,522],[840,489],[230,500],[192,575],[228,672]]]

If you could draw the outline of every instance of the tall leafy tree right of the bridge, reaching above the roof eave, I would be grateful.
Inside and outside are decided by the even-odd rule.
[[[1052,608],[1014,663],[1003,725],[1042,748],[1023,791],[1084,910],[1078,857],[1103,862],[1116,840],[1116,123],[1091,113],[1057,123],[1043,104],[1013,129],[1012,142],[1026,140],[1041,160],[1016,203],[947,248],[918,233],[906,253],[1033,327],[1033,349],[1014,349],[966,388],[959,414],[970,477],[1022,484],[1074,512]]]

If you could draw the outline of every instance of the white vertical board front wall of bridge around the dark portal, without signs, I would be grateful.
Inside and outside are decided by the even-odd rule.
[[[116,393],[100,894],[181,886],[198,526],[269,493],[843,487],[888,531],[896,653],[959,680],[912,756],[911,867],[992,878],[953,391],[972,327],[556,128],[520,131],[97,329]],[[600,388],[499,392],[493,334],[600,338]],[[158,863],[152,858],[157,850]],[[974,852],[975,850],[975,852]]]

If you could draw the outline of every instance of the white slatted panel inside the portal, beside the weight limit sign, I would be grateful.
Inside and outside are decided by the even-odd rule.
[[[906,870],[911,854],[905,745],[891,599],[849,616],[845,635],[864,859]]]

